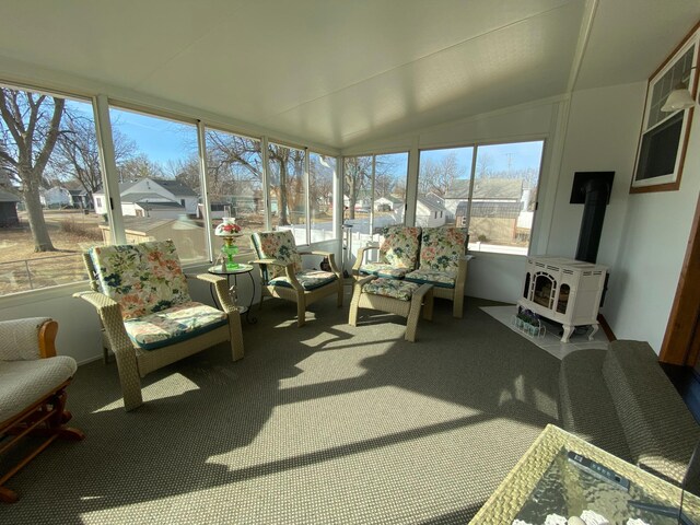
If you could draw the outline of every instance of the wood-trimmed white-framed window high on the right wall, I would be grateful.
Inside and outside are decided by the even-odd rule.
[[[670,109],[666,102],[677,89],[688,90],[696,100],[699,33],[699,26],[693,27],[649,79],[631,194],[680,187],[695,104],[686,109]]]

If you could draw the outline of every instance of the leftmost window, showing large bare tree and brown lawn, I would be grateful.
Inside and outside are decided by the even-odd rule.
[[[82,281],[104,240],[92,105],[0,88],[0,295]]]

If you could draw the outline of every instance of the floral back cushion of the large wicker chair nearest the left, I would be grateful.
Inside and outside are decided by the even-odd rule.
[[[121,305],[125,320],[191,301],[172,241],[95,246],[90,257],[102,293]]]

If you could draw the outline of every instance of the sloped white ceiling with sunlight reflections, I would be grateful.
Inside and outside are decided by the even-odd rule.
[[[0,80],[55,71],[341,149],[644,80],[699,19],[697,0],[3,0]]]

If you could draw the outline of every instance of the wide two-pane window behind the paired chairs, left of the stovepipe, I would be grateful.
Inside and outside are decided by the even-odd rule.
[[[542,148],[533,141],[421,151],[417,224],[465,228],[471,250],[527,255]]]

